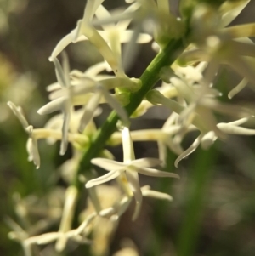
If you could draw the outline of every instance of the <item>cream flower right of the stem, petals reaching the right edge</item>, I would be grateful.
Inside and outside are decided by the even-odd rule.
[[[191,94],[192,91],[190,91],[190,94],[187,95],[187,97],[192,97]],[[186,94],[186,93],[185,93]],[[202,143],[204,148],[207,147],[207,145],[212,145],[213,141],[215,139],[219,138],[225,138],[225,134],[246,134],[246,135],[252,135],[253,130],[249,130],[246,128],[239,128],[238,125],[240,125],[243,122],[246,122],[247,118],[251,115],[251,112],[242,109],[239,106],[235,105],[223,105],[218,103],[217,101],[211,99],[211,98],[204,98],[202,99],[201,107],[197,108],[194,105],[194,108],[189,107],[185,108],[183,105],[180,105],[177,101],[172,100],[172,99],[167,99],[164,97],[160,92],[153,90],[149,94],[147,94],[147,99],[150,100],[154,104],[161,104],[165,105],[168,108],[170,108],[172,111],[177,113],[179,117],[184,113],[185,115],[189,113],[192,114],[189,122],[187,125],[184,126],[184,130],[182,130],[183,127],[180,128],[180,137],[177,137],[177,142],[178,144],[181,143],[182,138],[184,137],[184,134],[186,134],[188,131],[193,130],[197,128],[201,134],[198,136],[197,139],[195,139],[194,143],[190,145],[188,149],[185,151],[181,152],[178,158],[175,161],[175,166],[178,166],[178,162],[182,160],[184,157],[189,156],[190,153],[195,151],[195,149]],[[197,102],[198,103],[198,102]],[[197,104],[196,103],[196,104]],[[200,104],[201,104],[200,103]],[[199,105],[198,105],[199,106]],[[188,111],[186,111],[188,110]],[[191,111],[192,110],[192,111]],[[222,123],[217,123],[215,117],[212,115],[212,110],[215,111],[220,111],[222,113],[227,113],[227,114],[235,114],[235,115],[244,115],[248,116],[245,118],[241,118],[240,121],[236,122],[230,122],[228,125],[227,124],[222,124]],[[186,111],[186,112],[185,112]],[[189,116],[187,116],[189,117]],[[173,123],[173,120],[170,121],[170,124]],[[193,126],[190,127],[190,124]],[[179,136],[179,134],[177,134]],[[175,144],[176,145],[176,144]],[[181,148],[180,148],[181,150]]]

